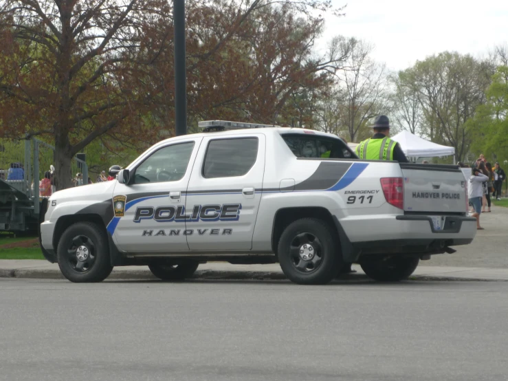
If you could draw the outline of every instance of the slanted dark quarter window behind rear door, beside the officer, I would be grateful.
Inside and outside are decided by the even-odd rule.
[[[357,159],[357,155],[340,138],[303,133],[280,135],[296,157]]]

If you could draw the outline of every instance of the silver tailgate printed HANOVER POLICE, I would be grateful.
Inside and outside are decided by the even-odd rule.
[[[465,178],[457,166],[400,164],[404,177],[404,210],[466,213]]]

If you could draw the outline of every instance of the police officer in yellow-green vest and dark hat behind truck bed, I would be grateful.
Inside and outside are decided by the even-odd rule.
[[[395,160],[399,163],[409,162],[399,143],[388,138],[390,134],[390,120],[388,120],[388,116],[377,116],[371,127],[374,130],[373,137],[360,142],[356,147],[356,153],[360,159]]]

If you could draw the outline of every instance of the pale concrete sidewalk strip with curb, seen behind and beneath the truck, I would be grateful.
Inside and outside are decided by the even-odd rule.
[[[353,268],[355,274],[346,274],[344,279],[366,279],[358,265]],[[0,260],[0,277],[32,279],[64,279],[56,263],[47,261]],[[231,265],[230,263],[205,263],[199,265],[196,279],[286,279],[278,264],[269,265]],[[508,281],[508,269],[462,268],[419,266],[411,276],[417,280],[448,281]],[[114,268],[108,279],[156,279],[146,266],[128,266]]]

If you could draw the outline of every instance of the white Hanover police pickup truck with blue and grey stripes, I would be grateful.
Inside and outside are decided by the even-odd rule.
[[[73,282],[148,265],[186,279],[199,263],[280,263],[328,283],[360,263],[377,281],[471,243],[457,166],[359,160],[335,135],[240,122],[155,144],[114,181],[60,190],[41,213],[48,261]]]

